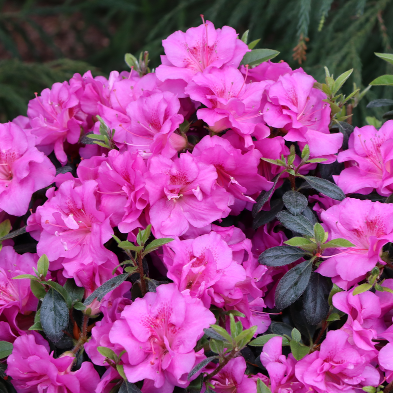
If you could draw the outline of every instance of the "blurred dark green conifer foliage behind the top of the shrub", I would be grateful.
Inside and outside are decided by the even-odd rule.
[[[353,68],[344,92],[364,88],[393,66],[374,52],[392,53],[393,0],[0,0],[0,121],[25,114],[34,92],[73,73],[94,75],[127,69],[124,54],[149,51],[160,64],[161,40],[201,23],[232,26],[256,48],[280,51],[274,61],[301,67],[323,82],[324,69],[337,77]],[[393,88],[372,87],[354,110],[353,124],[376,98]]]

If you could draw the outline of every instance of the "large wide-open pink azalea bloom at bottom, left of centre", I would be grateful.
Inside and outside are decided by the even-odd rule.
[[[187,387],[189,371],[204,358],[203,349],[195,352],[194,347],[203,329],[215,323],[213,313],[172,283],[137,298],[121,315],[109,339],[128,352],[128,363],[124,364],[127,379],[145,379],[151,393]]]

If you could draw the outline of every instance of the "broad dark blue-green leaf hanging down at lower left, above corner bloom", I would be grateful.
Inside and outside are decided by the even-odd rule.
[[[41,304],[41,325],[47,337],[57,342],[68,325],[69,312],[63,296],[50,288]]]

